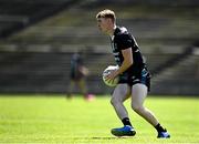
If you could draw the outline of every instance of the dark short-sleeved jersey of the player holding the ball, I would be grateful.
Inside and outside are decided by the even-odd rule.
[[[134,63],[121,75],[126,75],[125,78],[129,79],[129,76],[140,74],[142,70],[145,68],[145,62],[134,37],[127,31],[127,29],[124,27],[117,27],[111,41],[115,61],[119,66],[124,61],[122,50],[132,48]]]

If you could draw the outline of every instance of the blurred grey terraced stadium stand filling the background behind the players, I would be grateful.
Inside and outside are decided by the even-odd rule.
[[[111,92],[101,74],[114,59],[95,22],[105,8],[137,39],[153,74],[151,94],[199,95],[197,0],[1,0],[0,92],[65,93],[76,50],[91,71],[90,91]]]

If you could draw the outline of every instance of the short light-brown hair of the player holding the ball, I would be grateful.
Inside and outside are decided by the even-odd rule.
[[[108,9],[100,11],[96,14],[96,19],[98,19],[98,18],[109,18],[109,19],[112,19],[113,22],[115,22],[115,20],[116,20],[115,12],[112,10],[108,10]]]

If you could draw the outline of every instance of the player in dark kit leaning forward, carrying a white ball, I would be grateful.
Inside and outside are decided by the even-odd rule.
[[[157,137],[170,137],[155,115],[144,106],[144,101],[150,86],[150,74],[134,37],[126,28],[116,25],[116,17],[112,10],[98,12],[96,20],[98,29],[109,35],[113,54],[117,65],[119,65],[118,70],[106,76],[109,81],[119,76],[119,82],[113,92],[111,103],[124,126],[113,128],[112,134],[115,136],[134,136],[136,134],[123,104],[125,100],[130,97],[132,109],[157,130]]]

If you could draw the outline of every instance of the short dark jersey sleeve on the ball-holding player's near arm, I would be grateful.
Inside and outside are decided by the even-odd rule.
[[[134,45],[134,40],[132,39],[129,34],[123,33],[123,34],[117,35],[116,43],[121,50],[125,50]]]

